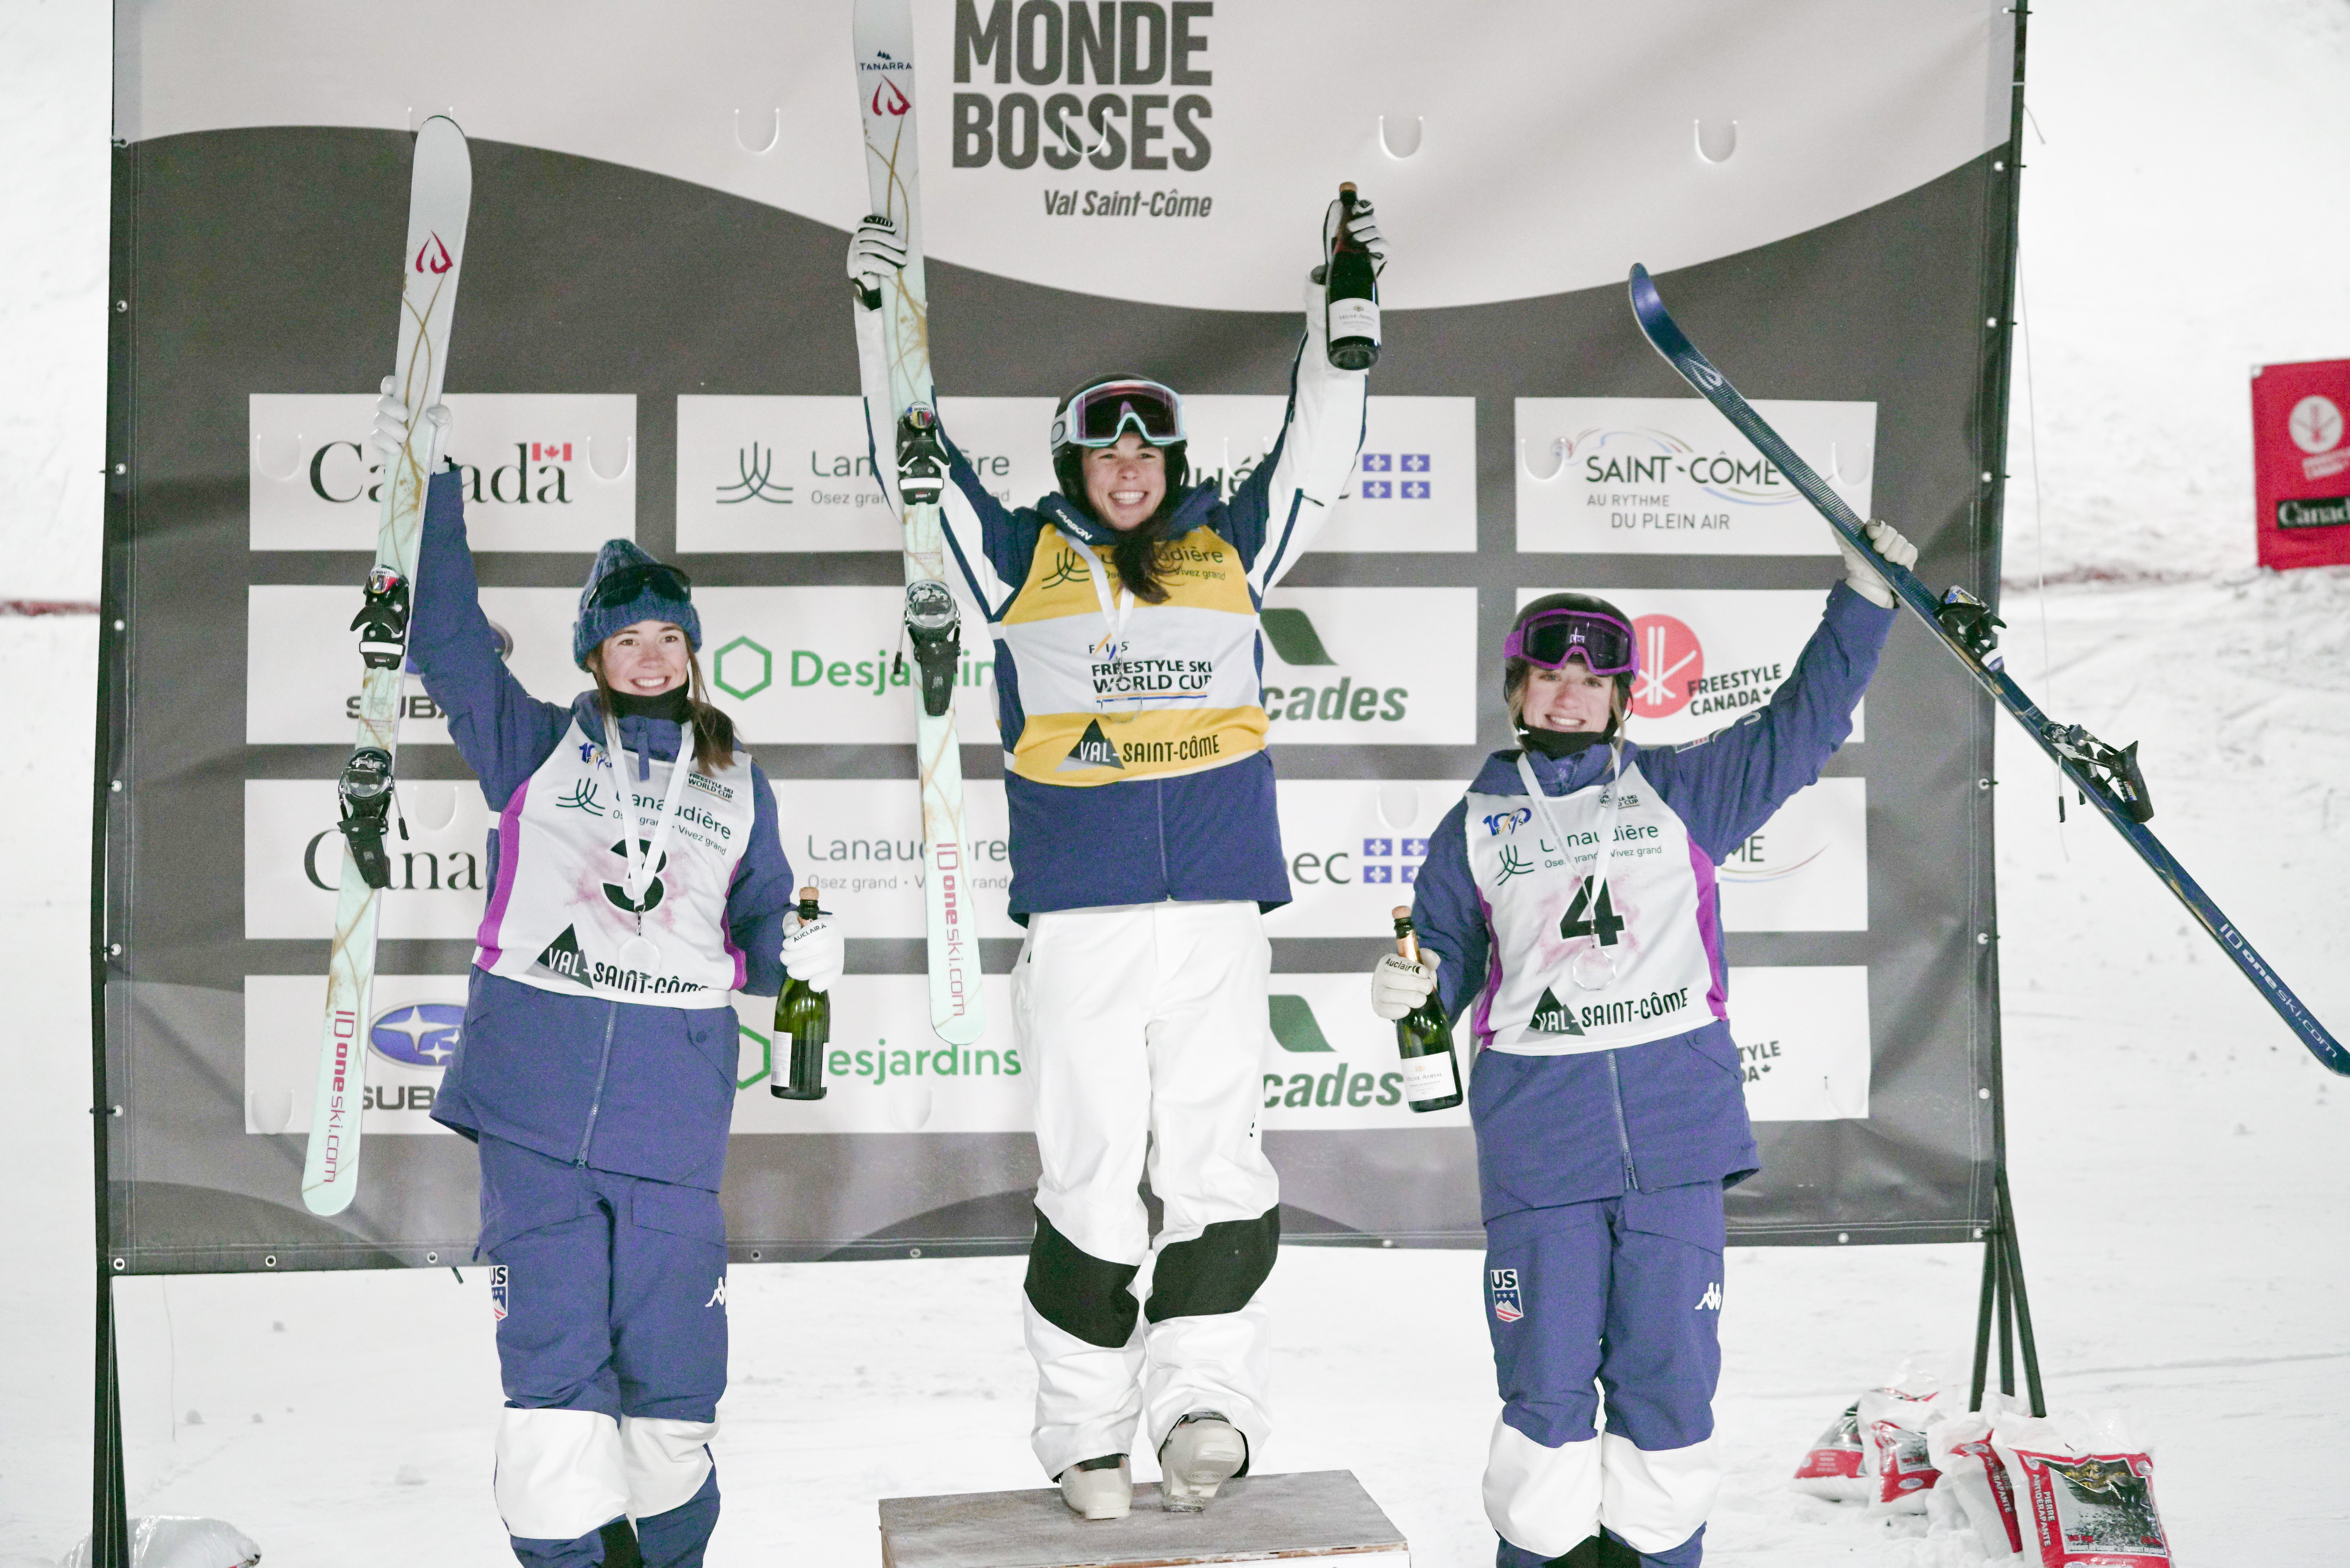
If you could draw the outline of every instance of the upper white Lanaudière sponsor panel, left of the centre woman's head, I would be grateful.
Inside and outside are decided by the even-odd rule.
[[[1034,505],[1055,489],[1050,397],[940,397],[938,418],[1003,505]],[[893,461],[888,433],[881,461]],[[874,482],[862,397],[677,400],[682,555],[895,552],[900,543],[898,515]]]

